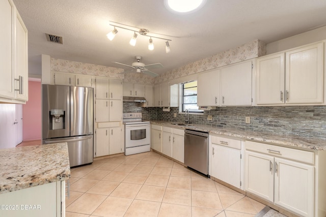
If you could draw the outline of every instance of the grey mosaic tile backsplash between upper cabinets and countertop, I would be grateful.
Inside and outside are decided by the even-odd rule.
[[[144,120],[165,120],[183,122],[184,114],[179,108],[170,112],[162,108],[142,108],[139,103],[123,103],[123,112],[142,112]],[[177,113],[177,117],[173,114]],[[213,120],[208,121],[207,115]],[[251,123],[246,123],[250,116]],[[218,107],[205,111],[203,115],[189,114],[189,121],[211,127],[249,130],[279,136],[297,136],[304,138],[326,139],[326,106],[252,106]]]

